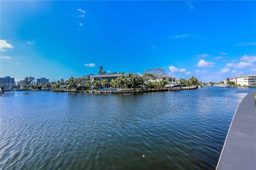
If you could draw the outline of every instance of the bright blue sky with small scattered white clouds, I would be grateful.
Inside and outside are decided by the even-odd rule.
[[[256,2],[1,1],[1,77],[256,74]]]

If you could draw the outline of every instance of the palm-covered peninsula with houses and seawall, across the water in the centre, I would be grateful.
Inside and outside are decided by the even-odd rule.
[[[158,92],[168,90],[191,90],[204,83],[197,78],[176,80],[167,76],[161,68],[148,69],[143,74],[135,73],[106,73],[99,68],[98,75],[85,75],[81,78],[70,77],[68,80],[37,84],[33,77],[26,77],[18,87],[20,90],[52,90],[55,92],[86,92],[86,93],[138,93]],[[178,85],[178,89],[172,88]]]

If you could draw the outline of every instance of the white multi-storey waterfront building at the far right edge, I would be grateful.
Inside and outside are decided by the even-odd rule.
[[[230,81],[241,86],[256,86],[256,74],[238,76],[230,79]]]

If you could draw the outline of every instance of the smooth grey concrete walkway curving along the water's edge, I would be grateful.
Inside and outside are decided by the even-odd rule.
[[[256,105],[250,92],[239,104],[224,143],[218,170],[256,169]]]

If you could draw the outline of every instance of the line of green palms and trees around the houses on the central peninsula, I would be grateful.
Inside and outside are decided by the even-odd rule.
[[[99,75],[106,74],[106,71],[103,71],[103,67],[99,67]],[[76,90],[89,90],[92,87],[96,88],[105,88],[106,83],[109,83],[111,88],[118,89],[163,89],[165,85],[169,84],[169,81],[165,79],[166,73],[162,68],[153,68],[147,69],[142,75],[135,73],[108,73],[108,74],[119,74],[119,77],[112,79],[110,82],[106,79],[101,79],[100,81],[93,80],[90,81],[90,76],[93,74],[85,75],[81,78],[70,77],[68,80],[60,79],[58,81],[54,81],[48,84],[33,84],[35,78],[26,77],[23,81],[21,81],[24,87],[32,87],[34,89],[40,89],[42,86],[44,87],[52,87],[52,88],[61,88],[62,86],[66,86],[67,89],[76,89]],[[170,77],[171,78],[171,77]],[[171,78],[174,79],[174,78]],[[189,79],[180,79],[178,83],[182,84],[182,86],[197,86],[202,84],[202,82],[198,81],[197,78],[191,77]]]

